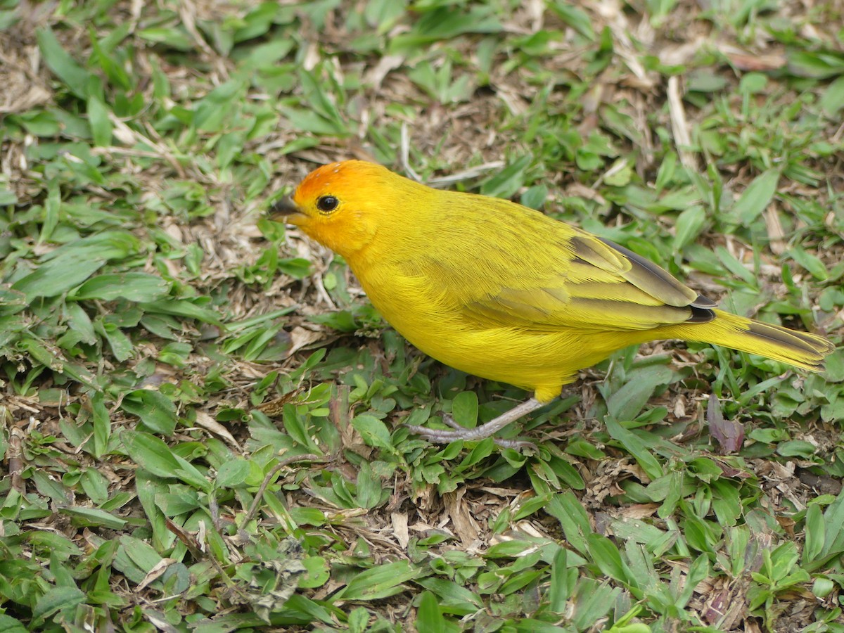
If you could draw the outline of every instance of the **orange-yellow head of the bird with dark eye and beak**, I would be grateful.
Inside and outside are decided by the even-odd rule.
[[[415,185],[363,160],[322,165],[305,176],[291,197],[275,203],[270,217],[298,226],[346,258],[354,257],[379,228],[395,221],[405,183]]]

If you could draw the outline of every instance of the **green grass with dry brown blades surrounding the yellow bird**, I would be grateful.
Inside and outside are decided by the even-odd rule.
[[[265,219],[472,170],[841,344],[840,5],[522,4],[0,0],[0,628],[844,631],[840,350],[624,350],[536,454],[432,446],[527,394]]]

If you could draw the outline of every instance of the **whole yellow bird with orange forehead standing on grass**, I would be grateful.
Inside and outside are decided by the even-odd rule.
[[[533,391],[485,425],[410,427],[479,440],[560,395],[616,349],[680,338],[819,371],[815,334],[716,309],[623,246],[521,204],[425,187],[381,165],[323,165],[272,217],[342,255],[387,322],[458,370]]]

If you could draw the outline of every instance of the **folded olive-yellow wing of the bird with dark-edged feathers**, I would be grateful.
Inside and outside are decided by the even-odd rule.
[[[645,330],[714,318],[715,303],[624,246],[568,225],[565,248],[546,243],[511,272],[463,292],[465,317],[484,327]],[[534,246],[535,247],[535,246]],[[556,252],[549,255],[549,249]],[[555,262],[552,269],[544,262]],[[492,280],[490,283],[490,279]]]

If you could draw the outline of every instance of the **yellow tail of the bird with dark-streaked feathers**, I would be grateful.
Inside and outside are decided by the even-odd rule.
[[[824,358],[835,345],[817,334],[797,332],[787,327],[753,321],[714,310],[715,318],[706,323],[681,323],[658,328],[665,338],[684,338],[760,354],[809,371],[821,371]]]

